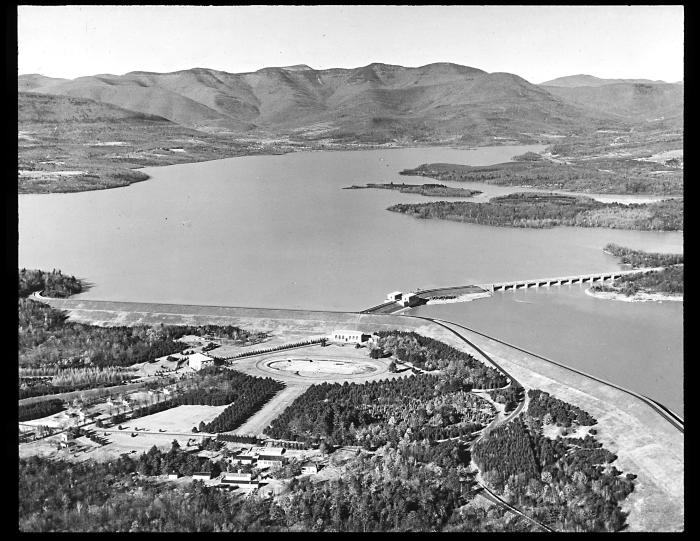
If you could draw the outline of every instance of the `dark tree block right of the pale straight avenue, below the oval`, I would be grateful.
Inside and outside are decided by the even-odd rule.
[[[471,437],[494,416],[493,407],[458,380],[419,374],[362,384],[312,385],[265,434],[279,439],[376,449],[387,442]]]

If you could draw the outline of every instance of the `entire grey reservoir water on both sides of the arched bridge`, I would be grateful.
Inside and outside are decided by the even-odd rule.
[[[19,264],[60,268],[94,283],[82,298],[359,310],[397,289],[615,270],[617,259],[602,252],[608,242],[682,252],[683,235],[678,232],[534,230],[417,220],[385,209],[434,198],[341,189],[367,182],[433,182],[400,176],[398,171],[427,162],[486,165],[542,148],[249,156],[145,169],[152,178],[127,188],[21,195]],[[522,191],[444,184],[482,190],[476,200]],[[656,381],[649,370],[652,364],[673,365],[668,370],[673,382],[657,383],[668,385],[669,399],[662,402],[682,411],[670,403],[671,397],[682,396],[681,303],[628,304],[590,299],[583,293],[557,294],[558,288],[542,291],[532,293],[536,302],[528,302],[534,305],[515,302],[531,295],[528,291],[424,310],[454,310],[477,329],[477,319],[483,325],[490,322],[485,332],[506,339],[508,332],[515,333],[523,347],[562,362],[579,362],[565,357],[568,351],[587,352],[580,362],[588,363],[591,372],[598,369],[596,363],[605,364],[602,359],[621,365],[619,359],[624,358],[629,360],[625,366],[636,363],[639,378]],[[527,311],[520,305],[532,308]],[[481,315],[475,318],[477,307]],[[506,315],[509,319],[503,319]],[[549,327],[551,322],[559,327]],[[675,334],[669,335],[665,325]],[[625,335],[628,331],[631,334]],[[585,333],[598,338],[586,340],[583,347],[579,340]],[[652,347],[664,341],[673,341],[670,349]],[[620,383],[632,385],[628,375]]]

